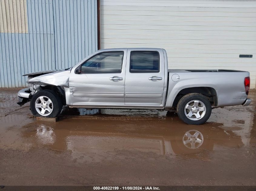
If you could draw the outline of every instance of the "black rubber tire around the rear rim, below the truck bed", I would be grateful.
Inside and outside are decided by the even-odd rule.
[[[204,105],[206,107],[205,114],[201,119],[192,120],[192,118],[189,119],[185,114],[185,107],[186,107],[187,103],[189,103],[192,100],[199,100],[202,103],[204,103]],[[178,113],[179,118],[183,122],[185,122],[189,125],[201,125],[201,124],[205,123],[211,116],[211,103],[207,99],[207,97],[203,96],[202,94],[197,94],[197,93],[187,94],[179,100],[178,105],[177,105],[177,113]],[[195,116],[193,116],[193,117],[195,117]]]

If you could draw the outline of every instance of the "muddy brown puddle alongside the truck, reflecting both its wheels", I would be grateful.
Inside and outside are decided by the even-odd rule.
[[[106,116],[100,119],[65,118],[57,123],[36,121],[25,126],[27,131],[23,136],[33,146],[44,145],[52,150],[70,151],[75,158],[83,155],[86,161],[93,158],[92,161],[96,162],[111,160],[124,151],[209,160],[211,151],[228,151],[244,146],[241,136],[236,133],[237,126],[234,129],[223,129],[223,123],[189,126],[177,116],[171,116],[171,120],[170,116],[119,116],[112,120]]]

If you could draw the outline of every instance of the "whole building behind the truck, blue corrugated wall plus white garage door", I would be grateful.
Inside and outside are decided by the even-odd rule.
[[[169,69],[236,69],[256,82],[256,0],[0,0],[0,87],[101,48],[155,47]]]

